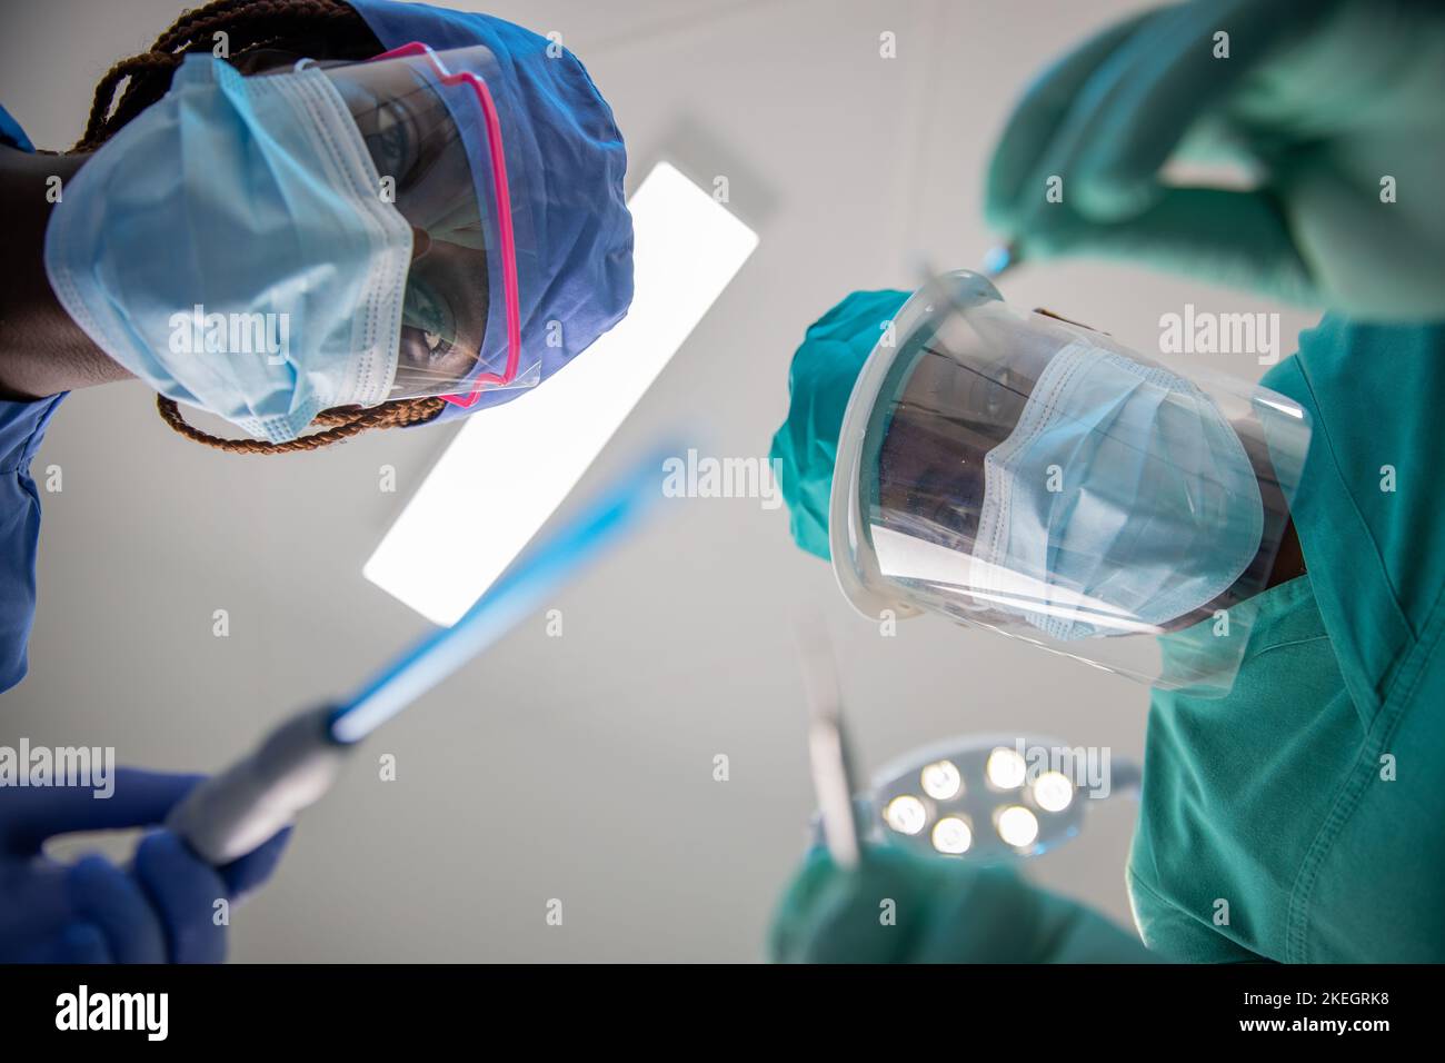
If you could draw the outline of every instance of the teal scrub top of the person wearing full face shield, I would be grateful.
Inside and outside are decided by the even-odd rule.
[[[1264,385],[1314,437],[1308,576],[1256,615],[1224,699],[1153,696],[1129,863],[1173,960],[1445,960],[1445,325],[1327,317]]]

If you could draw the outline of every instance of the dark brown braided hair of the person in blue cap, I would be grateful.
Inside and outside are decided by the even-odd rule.
[[[95,85],[85,135],[72,150],[92,152],[116,130],[166,94],[171,78],[188,52],[210,52],[212,33],[224,30],[230,58],[263,48],[276,48],[314,59],[368,59],[379,55],[381,42],[353,7],[341,0],[214,0],[204,7],[184,12],[175,25],[156,38],[150,51],[117,62]],[[124,88],[121,88],[124,82]],[[117,100],[118,94],[118,100]],[[425,424],[442,412],[442,399],[399,399],[379,406],[341,406],[316,415],[324,431],[289,443],[227,440],[186,424],[181,408],[163,395],[156,396],[160,419],[195,443],[231,454],[292,454],[318,450],[348,440],[371,428],[396,428]]]

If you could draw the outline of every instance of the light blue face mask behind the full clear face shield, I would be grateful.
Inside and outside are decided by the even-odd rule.
[[[1056,639],[1146,631],[1217,599],[1264,509],[1238,435],[1196,386],[1077,343],[984,457],[977,584]],[[1020,594],[1020,587],[1029,587]]]

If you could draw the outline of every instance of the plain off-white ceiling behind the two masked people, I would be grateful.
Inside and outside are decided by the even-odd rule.
[[[38,145],[66,146],[101,72],[178,7],[7,7],[0,101]],[[679,417],[705,422],[711,453],[766,454],[803,328],[850,291],[909,286],[915,255],[975,265],[988,246],[981,174],[1010,103],[1040,64],[1133,7],[490,4],[564,33],[617,113],[633,181],[663,156],[727,174],[762,236],[584,492]],[[897,35],[896,59],[879,56],[883,30]],[[1159,314],[1185,301],[1269,308],[1097,263],[1026,268],[1003,288],[1144,350]],[[1289,337],[1308,323],[1283,321]],[[1218,364],[1257,373],[1248,359]],[[361,564],[449,431],[243,458],[173,435],[142,385],[72,395],[36,460],[64,469],[64,492],[42,496],[30,677],[3,699],[0,740],[214,769],[345,690],[423,626]],[[399,470],[399,495],[379,490],[383,464]],[[1116,756],[1142,748],[1143,688],[942,620],[880,638],[792,547],[786,511],[756,500],[676,503],[556,607],[561,639],[538,618],[374,738],[237,917],[238,959],[760,957],[812,810],[792,651],[809,607],[832,631],[866,768],[1014,726]],[[230,638],[212,636],[215,609],[230,612]],[[396,782],[379,781],[381,754],[396,755]],[[712,778],[715,754],[731,761],[728,782]],[[1030,874],[1127,921],[1134,808],[1090,811],[1085,836]],[[549,898],[564,901],[562,927],[545,923]]]

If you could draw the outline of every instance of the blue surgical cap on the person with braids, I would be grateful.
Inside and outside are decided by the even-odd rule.
[[[621,321],[631,304],[627,150],[613,108],[575,55],[522,26],[429,4],[348,1],[389,51],[419,40],[438,52],[484,45],[496,56],[501,84],[488,81],[488,88],[501,113],[507,158],[527,174],[514,194],[530,201],[540,278],[520,291],[522,350],[525,360],[540,353],[546,380]],[[549,321],[562,325],[551,336]],[[448,404],[429,424],[501,405],[525,390],[488,390],[470,408]]]

